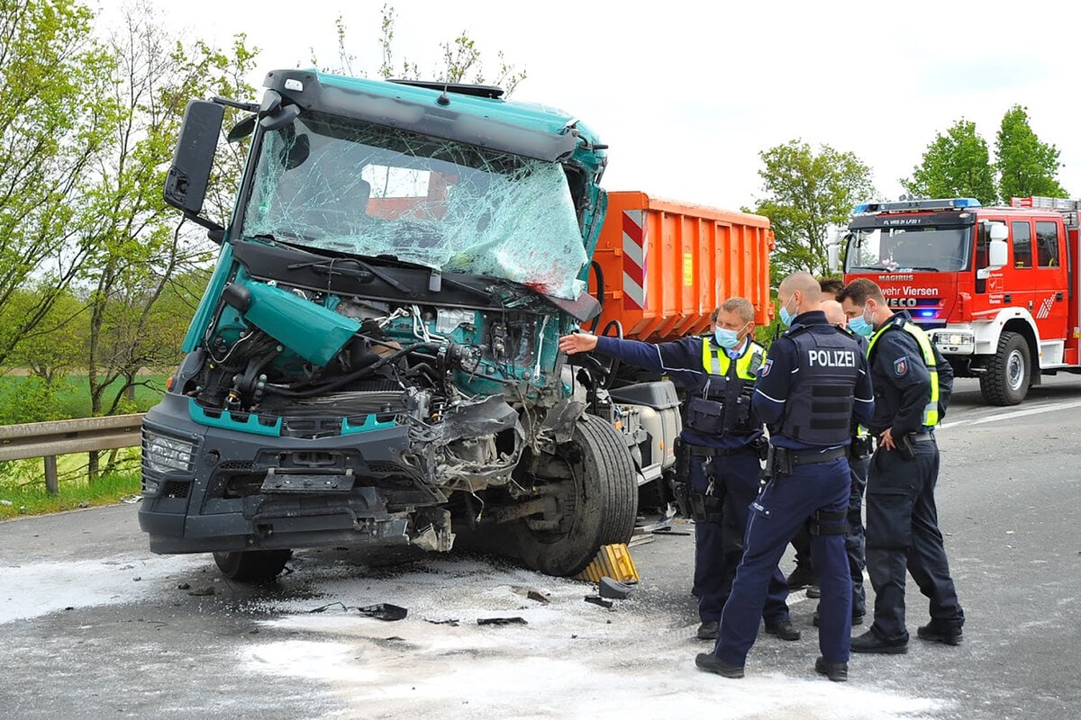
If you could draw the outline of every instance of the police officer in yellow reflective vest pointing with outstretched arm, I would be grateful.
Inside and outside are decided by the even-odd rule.
[[[756,373],[765,357],[765,349],[751,336],[755,308],[746,298],[730,298],[715,312],[715,330],[707,337],[658,344],[585,332],[559,339],[563,352],[596,350],[627,365],[665,372],[688,391],[677,474],[690,485],[681,504],[690,506],[695,521],[694,587],[702,621],[697,635],[704,640],[717,637],[765,446],[762,422],[751,411]],[[784,575],[774,562],[769,601],[759,615],[768,633],[798,640],[787,597]]]

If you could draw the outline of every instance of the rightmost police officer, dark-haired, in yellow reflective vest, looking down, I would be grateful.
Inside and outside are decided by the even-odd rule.
[[[867,425],[879,437],[867,484],[867,573],[875,588],[875,623],[852,639],[852,651],[907,652],[906,567],[931,600],[931,622],[919,628],[918,637],[956,646],[964,611],[938,530],[934,437],[952,391],[952,369],[907,312],[886,307],[871,281],[850,283],[841,304],[849,327],[870,337],[876,404]]]

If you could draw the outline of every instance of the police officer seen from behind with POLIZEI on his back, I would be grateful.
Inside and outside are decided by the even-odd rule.
[[[770,427],[768,483],[751,504],[746,546],[717,646],[695,658],[700,669],[728,678],[744,676],[769,579],[797,528],[812,518],[811,553],[823,596],[822,656],[815,670],[830,680],[848,679],[848,445],[852,423],[866,422],[875,400],[867,358],[852,338],[826,321],[818,309],[820,295],[810,273],[789,275],[777,290],[780,321],[790,327],[770,349],[753,395],[755,410]]]

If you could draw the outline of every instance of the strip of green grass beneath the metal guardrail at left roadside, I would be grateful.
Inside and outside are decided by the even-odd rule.
[[[107,457],[108,451],[103,451],[103,465]],[[103,472],[90,483],[86,453],[59,456],[56,458],[59,493],[55,495],[45,490],[41,458],[0,463],[0,520],[131,501],[139,493],[138,458],[138,448],[118,450],[115,470]]]

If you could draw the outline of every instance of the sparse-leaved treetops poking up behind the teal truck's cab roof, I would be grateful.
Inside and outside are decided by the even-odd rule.
[[[515,91],[515,87],[525,80],[525,70],[519,70],[517,67],[509,64],[504,56],[503,51],[496,52],[495,73],[489,74],[484,66],[484,58],[481,55],[480,49],[477,46],[477,42],[470,38],[468,32],[465,30],[452,40],[439,43],[439,50],[442,55],[442,65],[437,65],[436,68],[427,74],[422,73],[418,63],[409,58],[402,58],[400,69],[396,70],[396,67],[399,67],[395,56],[393,44],[395,23],[397,18],[398,15],[392,5],[383,5],[378,39],[383,58],[375,72],[377,77],[398,77],[405,80],[423,79],[436,82],[463,82],[475,83],[478,85],[491,83],[502,87],[505,96],[510,96],[510,94]],[[361,70],[361,68],[358,67],[355,69],[353,67],[357,58],[348,52],[348,41],[344,19],[338,16],[334,22],[334,26],[337,31],[339,63],[339,67],[334,68],[334,70],[353,76],[366,74]],[[317,66],[319,65],[313,55],[311,62]]]

